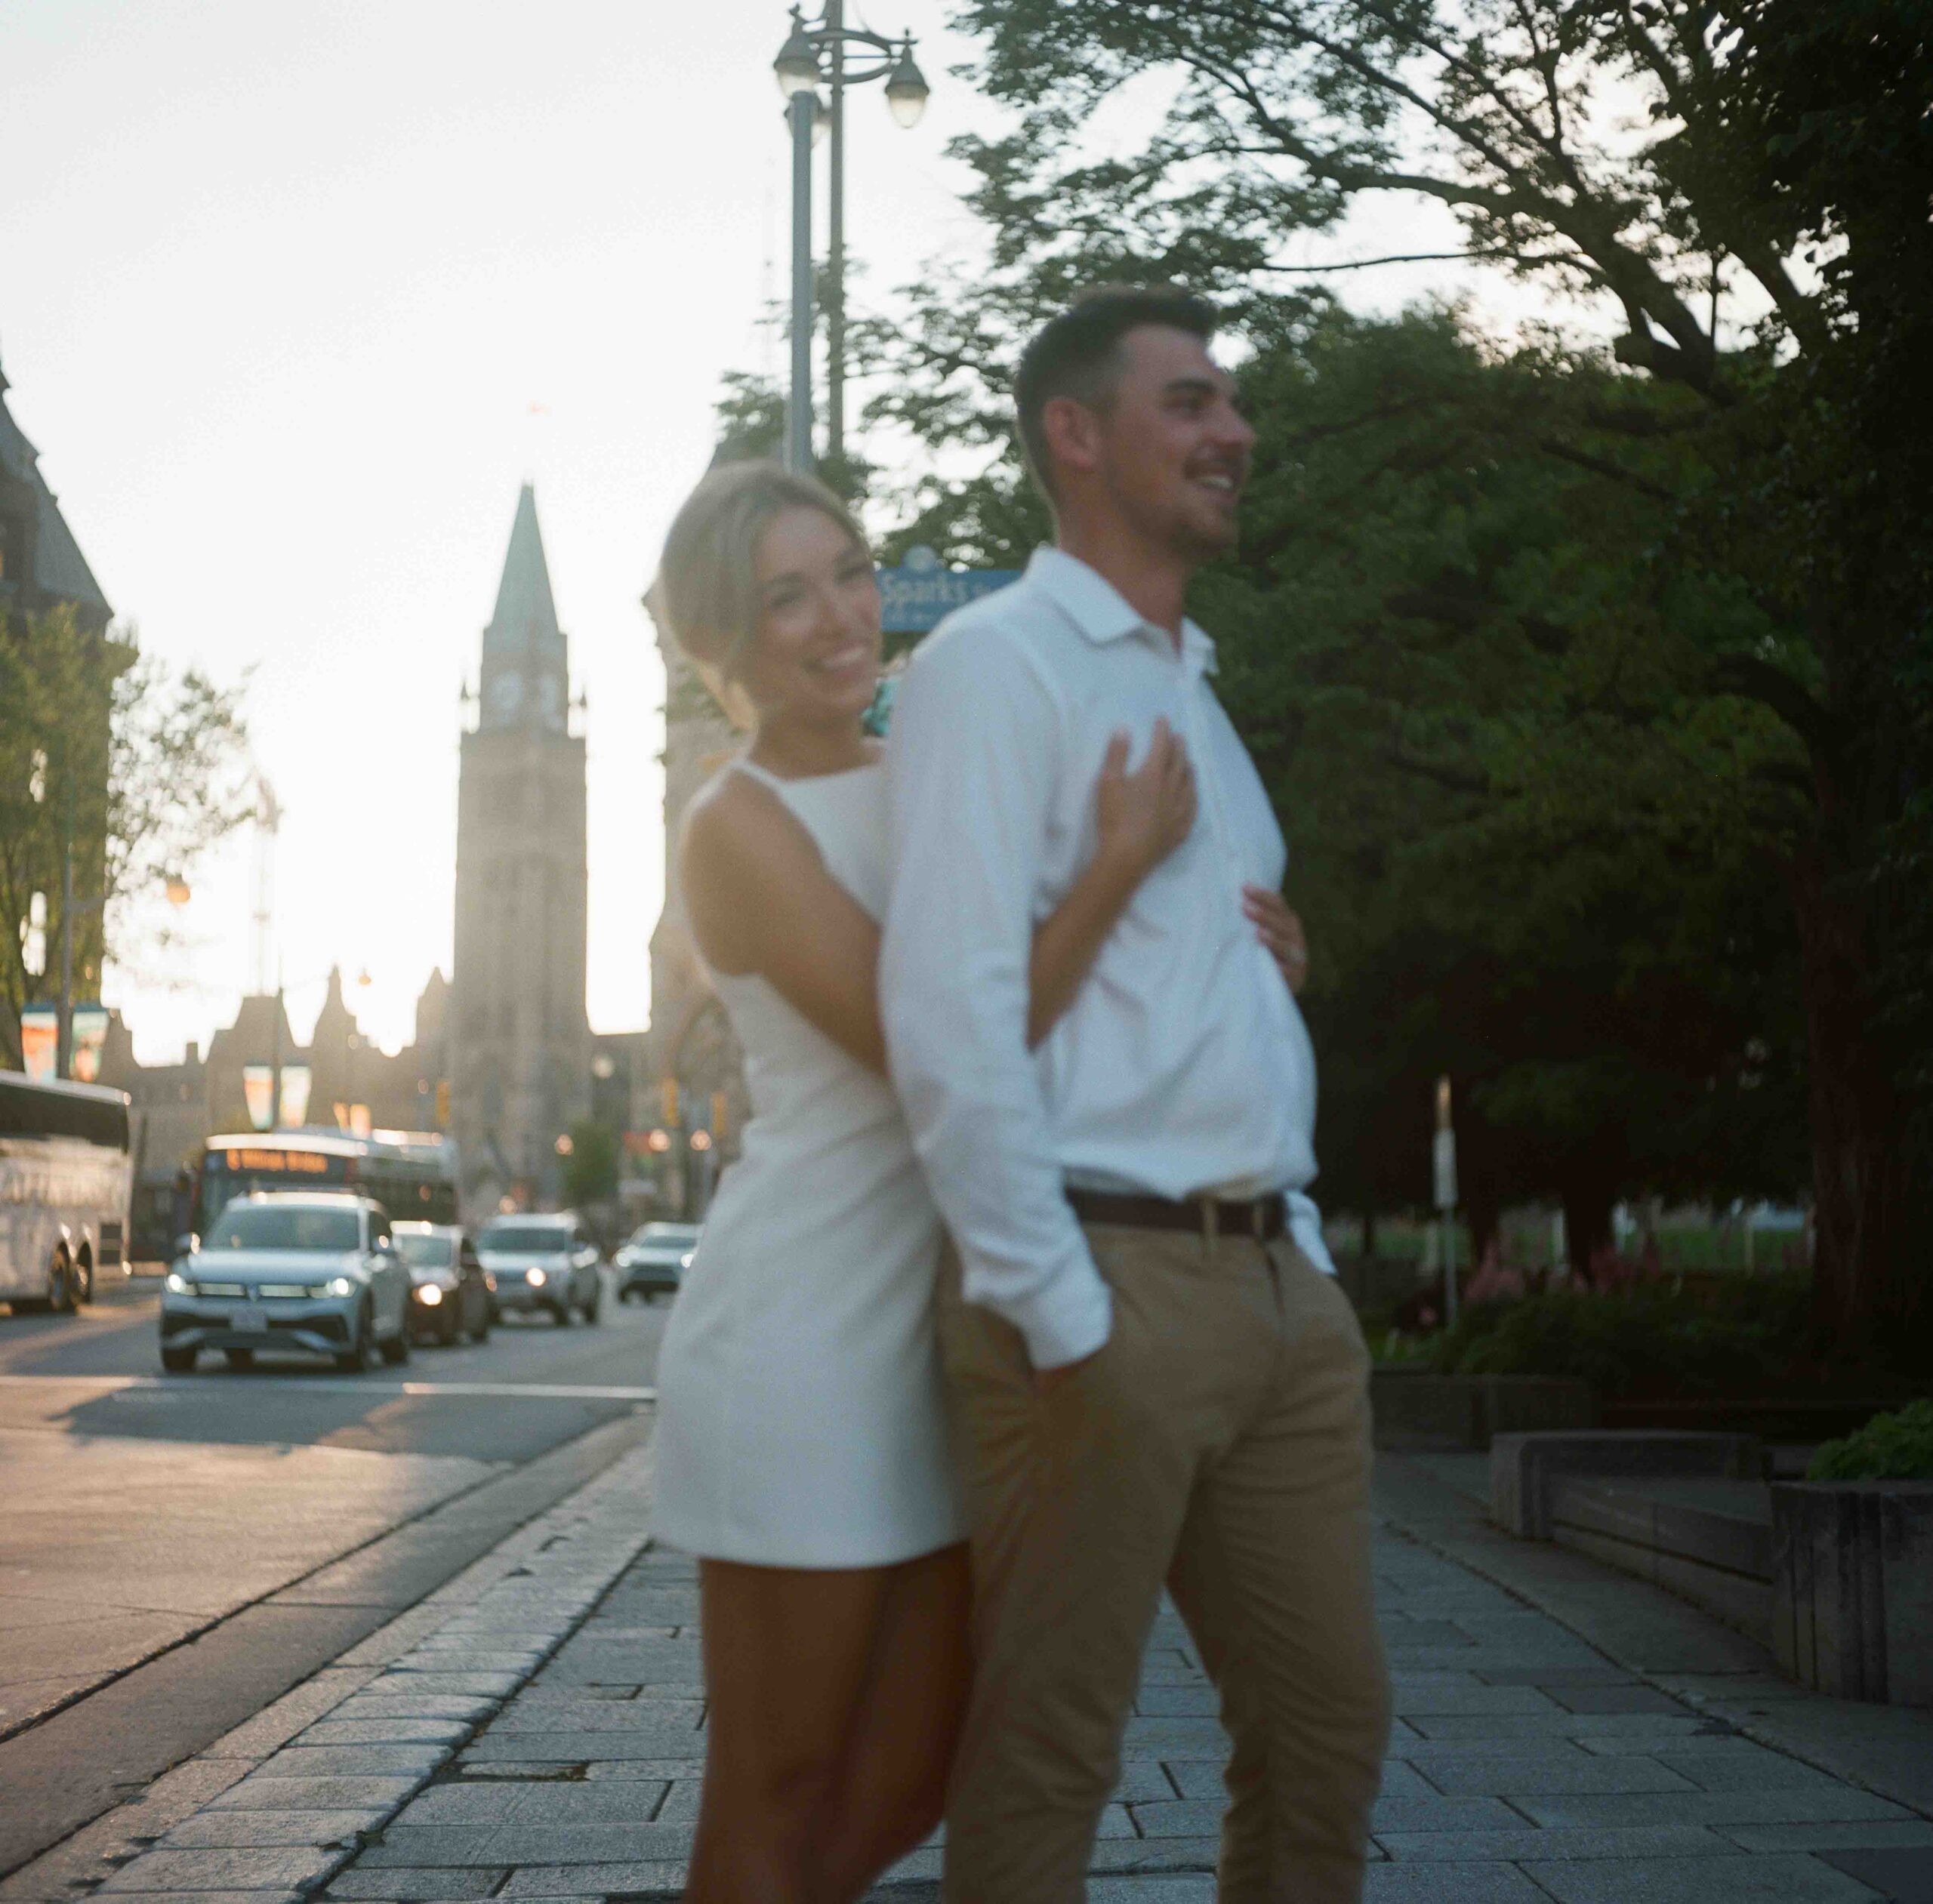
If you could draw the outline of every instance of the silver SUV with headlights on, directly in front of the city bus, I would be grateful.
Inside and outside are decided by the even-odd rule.
[[[410,1359],[410,1272],[383,1206],[348,1191],[236,1197],[160,1291],[160,1367],[203,1349],[249,1369],[263,1349],[305,1349],[360,1374]]]

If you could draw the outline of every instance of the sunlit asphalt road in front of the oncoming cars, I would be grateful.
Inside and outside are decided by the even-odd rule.
[[[0,1875],[634,1444],[669,1313],[162,1376],[153,1291],[0,1309]]]

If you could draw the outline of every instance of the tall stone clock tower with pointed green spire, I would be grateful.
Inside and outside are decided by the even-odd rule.
[[[516,499],[456,796],[450,1123],[464,1214],[561,1200],[557,1139],[590,1111],[584,736],[530,483]]]

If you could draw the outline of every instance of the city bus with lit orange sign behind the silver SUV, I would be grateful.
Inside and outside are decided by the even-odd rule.
[[[425,1131],[247,1131],[211,1137],[195,1171],[193,1233],[249,1191],[361,1191],[390,1222],[456,1222],[456,1144]],[[180,1249],[180,1241],[176,1241]]]

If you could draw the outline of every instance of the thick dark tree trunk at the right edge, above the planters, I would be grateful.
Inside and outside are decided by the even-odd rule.
[[[1892,1355],[1933,1328],[1921,1251],[1933,1222],[1933,1156],[1875,1034],[1865,907],[1829,881],[1817,852],[1794,866],[1805,984],[1813,1154],[1813,1314],[1842,1349]]]

